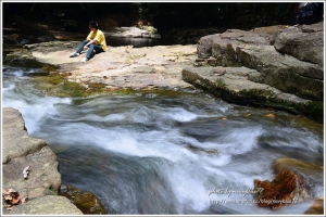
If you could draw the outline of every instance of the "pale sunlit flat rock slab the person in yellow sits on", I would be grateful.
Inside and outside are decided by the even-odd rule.
[[[26,46],[34,58],[42,63],[60,65],[58,72],[67,74],[68,81],[85,87],[104,84],[106,89],[131,88],[188,88],[183,80],[183,67],[192,65],[197,58],[197,46],[158,46],[133,48],[110,47],[109,51],[96,54],[82,63],[86,55],[68,58],[77,47],[76,41],[51,41]]]

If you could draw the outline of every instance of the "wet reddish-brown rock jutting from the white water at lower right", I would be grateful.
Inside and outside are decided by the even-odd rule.
[[[304,181],[290,170],[281,170],[273,181],[254,179],[254,190],[261,189],[255,194],[260,207],[277,209],[286,205],[301,202],[309,197]]]

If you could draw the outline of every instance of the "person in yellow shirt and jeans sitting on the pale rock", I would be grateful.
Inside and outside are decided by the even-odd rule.
[[[86,56],[82,62],[87,62],[93,56],[95,53],[104,52],[108,50],[106,41],[103,31],[99,29],[98,22],[89,22],[90,33],[88,34],[86,40],[84,40],[76,52],[70,55],[70,58],[75,58],[80,55],[82,51],[87,50]]]

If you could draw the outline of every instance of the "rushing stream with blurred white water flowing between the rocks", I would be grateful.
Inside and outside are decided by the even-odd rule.
[[[278,210],[250,193],[253,179],[275,178],[278,157],[323,166],[321,124],[193,90],[48,97],[34,87],[38,71],[4,65],[2,106],[55,152],[62,182],[95,193],[109,214],[300,215],[324,197],[323,174],[310,177],[311,199]]]

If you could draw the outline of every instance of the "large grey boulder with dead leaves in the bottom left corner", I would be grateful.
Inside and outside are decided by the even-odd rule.
[[[2,117],[2,189],[15,192],[14,203],[4,200],[3,213],[82,214],[68,200],[58,196],[59,163],[47,143],[28,136],[20,111],[4,107]]]

